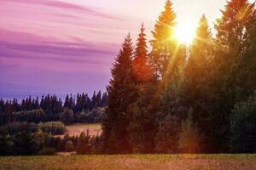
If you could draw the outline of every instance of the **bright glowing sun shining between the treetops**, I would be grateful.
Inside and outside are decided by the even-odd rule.
[[[195,38],[195,28],[191,25],[177,25],[174,28],[174,37],[179,43],[189,45]]]

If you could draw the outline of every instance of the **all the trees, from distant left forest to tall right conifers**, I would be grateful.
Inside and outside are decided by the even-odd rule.
[[[21,104],[1,99],[0,148],[13,150],[1,154],[40,154],[43,149],[41,154],[50,149],[78,154],[256,152],[255,3],[230,0],[221,13],[214,28],[202,14],[188,45],[175,37],[177,14],[166,0],[153,38],[148,40],[144,25],[136,42],[129,33],[113,63],[107,93],[94,93],[92,99],[87,94],[67,95],[64,103],[55,95]],[[56,139],[35,124],[59,121],[102,122],[102,134]],[[14,123],[25,130],[15,131]],[[37,146],[31,152],[16,138],[25,133],[22,139],[32,134]]]

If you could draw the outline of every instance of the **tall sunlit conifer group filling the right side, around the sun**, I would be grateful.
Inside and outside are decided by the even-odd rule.
[[[195,40],[177,41],[172,2],[148,41],[142,26],[117,55],[102,122],[102,152],[256,151],[255,3],[230,0],[215,22],[202,15]]]

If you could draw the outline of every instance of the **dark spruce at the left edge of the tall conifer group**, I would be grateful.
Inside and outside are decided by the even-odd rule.
[[[136,88],[132,71],[132,43],[130,34],[113,64],[109,82],[108,108],[102,123],[103,148],[108,153],[127,153],[131,146],[127,140],[129,126],[128,106],[136,99]]]

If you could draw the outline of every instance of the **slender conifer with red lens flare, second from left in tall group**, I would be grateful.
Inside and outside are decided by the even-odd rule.
[[[137,39],[137,48],[133,59],[133,74],[137,90],[137,99],[129,105],[131,112],[128,127],[129,143],[133,152],[148,153],[154,149],[155,112],[150,111],[154,102],[156,77],[148,63],[148,49],[144,26]]]

